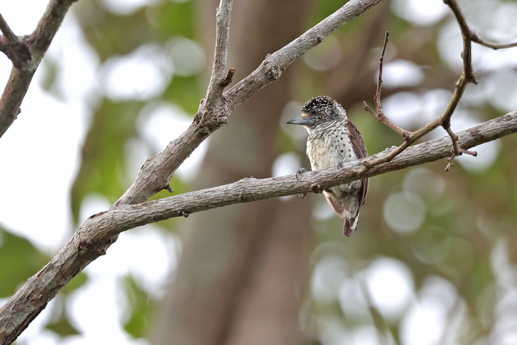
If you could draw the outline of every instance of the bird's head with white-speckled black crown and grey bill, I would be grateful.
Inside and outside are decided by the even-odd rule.
[[[346,112],[341,104],[328,96],[313,97],[301,108],[301,116],[290,119],[286,123],[302,125],[307,130],[326,122],[346,119]]]

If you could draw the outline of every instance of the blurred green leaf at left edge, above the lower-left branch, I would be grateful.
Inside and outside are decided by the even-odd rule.
[[[27,239],[0,229],[0,297],[9,297],[50,258]]]

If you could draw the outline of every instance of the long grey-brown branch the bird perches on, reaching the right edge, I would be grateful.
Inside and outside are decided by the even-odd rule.
[[[469,148],[517,132],[517,111],[458,133],[458,144]],[[387,149],[388,150],[388,149]],[[86,219],[71,241],[0,308],[0,343],[16,339],[21,331],[75,275],[101,254],[106,241],[122,231],[185,214],[269,198],[321,191],[365,177],[413,167],[450,154],[449,137],[406,149],[390,162],[362,170],[362,163],[382,157],[348,162],[337,167],[264,179],[244,178],[208,188],[135,205],[120,205]]]

